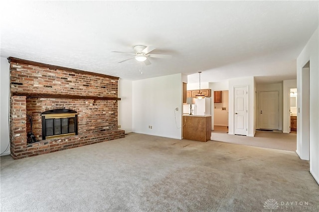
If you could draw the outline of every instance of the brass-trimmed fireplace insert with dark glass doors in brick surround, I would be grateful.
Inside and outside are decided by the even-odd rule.
[[[77,135],[77,112],[68,109],[42,113],[42,139]]]

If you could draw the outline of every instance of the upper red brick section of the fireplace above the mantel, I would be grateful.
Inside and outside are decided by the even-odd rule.
[[[118,97],[116,79],[15,62],[10,70],[11,92]]]

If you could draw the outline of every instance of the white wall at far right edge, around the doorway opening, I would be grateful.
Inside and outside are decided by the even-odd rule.
[[[307,129],[299,129],[297,126],[297,154],[301,159],[307,160],[308,153],[310,154],[310,172],[319,184],[319,28],[312,35],[307,45],[297,58],[297,89],[298,93],[303,93],[302,73],[305,64],[310,61],[310,141],[309,151],[307,150],[307,141],[303,140],[303,134]],[[303,106],[302,96],[298,96],[298,105],[300,113],[297,113],[298,123],[303,123]]]

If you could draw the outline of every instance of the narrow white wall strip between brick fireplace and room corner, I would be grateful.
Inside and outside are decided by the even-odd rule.
[[[132,81],[120,79],[119,80],[119,98],[118,101],[118,125],[121,125],[121,130],[125,133],[132,132]]]

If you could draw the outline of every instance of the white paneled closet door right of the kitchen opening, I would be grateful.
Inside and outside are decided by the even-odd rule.
[[[247,87],[235,87],[234,98],[234,134],[247,135]]]

